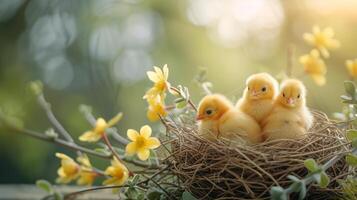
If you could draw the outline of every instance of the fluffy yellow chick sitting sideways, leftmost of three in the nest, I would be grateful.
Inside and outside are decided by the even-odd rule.
[[[219,94],[208,95],[201,100],[197,120],[200,121],[199,134],[209,140],[239,139],[248,143],[263,140],[259,124]]]

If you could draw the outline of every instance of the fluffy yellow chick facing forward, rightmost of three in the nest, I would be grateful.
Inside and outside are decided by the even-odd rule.
[[[306,89],[301,81],[284,81],[271,114],[263,122],[264,138],[274,140],[305,137],[313,122],[305,98]]]

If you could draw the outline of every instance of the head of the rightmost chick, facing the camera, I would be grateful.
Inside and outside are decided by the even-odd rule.
[[[305,104],[305,96],[304,84],[296,79],[288,79],[281,85],[277,102],[290,108],[300,107]]]

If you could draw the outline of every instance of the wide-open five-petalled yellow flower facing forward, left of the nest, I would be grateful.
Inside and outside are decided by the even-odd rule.
[[[150,137],[151,128],[148,125],[141,127],[140,134],[129,129],[127,135],[132,142],[126,145],[126,153],[128,155],[137,154],[140,160],[147,160],[150,156],[150,149],[160,146],[160,141],[157,138]]]

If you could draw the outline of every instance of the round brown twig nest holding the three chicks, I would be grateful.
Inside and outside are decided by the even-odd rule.
[[[269,199],[273,186],[287,187],[288,175],[303,178],[308,171],[304,160],[313,158],[324,164],[337,154],[351,150],[341,124],[314,111],[315,123],[309,136],[300,140],[279,140],[254,146],[229,141],[210,142],[196,134],[193,123],[168,123],[177,137],[172,142],[172,172],[184,187],[200,199]],[[344,159],[326,173],[331,182],[327,188],[308,187],[308,199],[330,199],[339,194],[338,179],[349,174]]]

